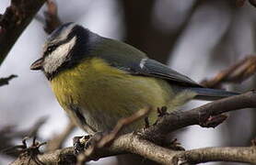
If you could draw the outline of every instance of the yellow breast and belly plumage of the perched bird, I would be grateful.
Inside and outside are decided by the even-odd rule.
[[[58,102],[76,124],[81,126],[70,104],[79,106],[87,124],[97,131],[111,129],[120,118],[146,106],[154,109],[149,115],[152,121],[157,117],[157,107],[167,105],[173,97],[168,82],[131,75],[99,59],[87,60],[75,69],[60,72],[51,85]],[[128,129],[141,126],[144,126],[143,120]]]

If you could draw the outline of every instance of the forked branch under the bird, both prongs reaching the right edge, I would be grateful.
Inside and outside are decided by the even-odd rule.
[[[188,151],[176,151],[169,148],[162,148],[154,144],[160,144],[167,134],[181,127],[192,125],[204,126],[205,120],[212,115],[221,115],[222,113],[238,110],[240,108],[256,107],[255,100],[256,93],[251,91],[249,93],[239,94],[204,104],[190,111],[164,115],[155,126],[149,126],[148,128],[140,130],[138,134],[130,133],[122,135],[114,139],[110,146],[95,149],[87,160],[100,159],[124,153],[134,153],[162,164],[180,164],[181,160],[182,162],[223,160],[256,163],[256,147],[200,148]],[[76,164],[76,157],[73,152],[73,148],[63,148],[51,153],[38,155],[38,158],[46,164],[53,164],[60,161],[64,163],[66,160],[68,160],[70,164]],[[20,163],[20,159],[17,159],[13,164],[18,164],[17,162]]]

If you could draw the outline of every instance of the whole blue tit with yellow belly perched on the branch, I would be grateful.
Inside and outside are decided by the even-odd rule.
[[[75,23],[52,32],[41,59],[30,69],[43,71],[59,104],[89,134],[111,130],[119,119],[145,107],[151,107],[147,117],[153,122],[157,107],[173,111],[192,98],[215,100],[237,94],[204,88],[139,49]],[[137,121],[126,131],[144,122]]]

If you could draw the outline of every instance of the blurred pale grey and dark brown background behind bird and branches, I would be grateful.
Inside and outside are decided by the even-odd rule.
[[[77,22],[101,36],[123,40],[196,82],[215,76],[255,52],[256,8],[248,3],[242,7],[236,6],[234,0],[76,0],[72,4],[70,0],[57,0],[56,3],[63,22]],[[9,4],[9,0],[1,0],[0,13]],[[38,17],[43,17],[45,10],[43,6]],[[39,132],[42,140],[61,133],[68,124],[45,77],[39,71],[29,71],[31,62],[41,56],[46,37],[43,24],[34,19],[0,69],[1,77],[18,75],[0,88],[0,129],[11,125],[23,130],[41,116],[48,116]],[[255,82],[252,77],[225,87],[245,92],[255,89]],[[193,101],[182,109],[200,104],[205,102]],[[83,132],[77,128],[65,146],[72,146],[72,137],[79,135]],[[190,149],[248,146],[255,135],[256,111],[249,109],[230,113],[227,121],[215,129],[190,126],[173,136]],[[14,142],[19,144],[20,139]],[[0,164],[11,160],[0,155]],[[108,158],[89,164],[116,163],[115,158]]]

